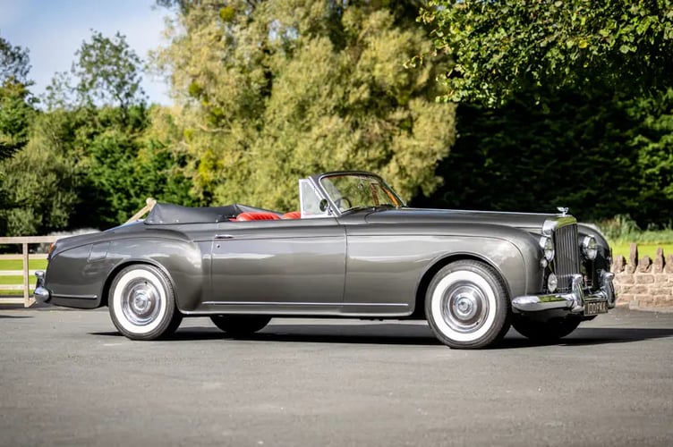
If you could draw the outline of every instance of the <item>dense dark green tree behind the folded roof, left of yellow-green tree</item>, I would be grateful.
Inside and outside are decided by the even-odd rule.
[[[178,168],[180,156],[161,145],[148,133],[149,112],[134,105],[102,107],[96,119],[78,130],[84,148],[79,188],[81,204],[74,210],[76,226],[109,228],[124,223],[144,206],[148,197],[193,205],[191,184]],[[129,125],[119,126],[120,114],[129,115]]]

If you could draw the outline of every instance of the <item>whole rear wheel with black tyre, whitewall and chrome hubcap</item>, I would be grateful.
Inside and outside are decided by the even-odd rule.
[[[155,266],[125,267],[115,276],[108,296],[110,317],[132,340],[155,340],[175,332],[183,319],[175,308],[175,291]]]

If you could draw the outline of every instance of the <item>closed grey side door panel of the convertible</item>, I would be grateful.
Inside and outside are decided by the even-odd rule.
[[[332,217],[218,223],[211,253],[204,304],[277,313],[342,305],[345,230]]]

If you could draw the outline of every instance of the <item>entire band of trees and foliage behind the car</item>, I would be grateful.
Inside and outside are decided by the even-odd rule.
[[[157,3],[149,61],[93,31],[44,97],[0,36],[0,233],[107,228],[147,197],[287,211],[332,169],[416,206],[673,222],[669,0]]]

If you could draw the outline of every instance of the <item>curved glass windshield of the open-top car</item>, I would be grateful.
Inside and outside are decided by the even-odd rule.
[[[379,177],[334,174],[320,178],[320,186],[340,212],[370,207],[404,207],[405,204]]]

